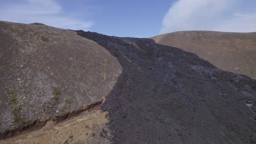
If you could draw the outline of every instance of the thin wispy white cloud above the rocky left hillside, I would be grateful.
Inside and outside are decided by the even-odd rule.
[[[93,25],[92,21],[82,21],[68,15],[71,14],[66,14],[55,0],[25,0],[22,4],[9,3],[0,6],[0,20],[2,21],[39,22],[53,27],[83,29],[84,31]]]

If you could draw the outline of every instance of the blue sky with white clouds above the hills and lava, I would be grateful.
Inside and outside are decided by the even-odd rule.
[[[0,0],[0,20],[118,37],[197,30],[256,32],[256,1]]]

